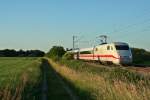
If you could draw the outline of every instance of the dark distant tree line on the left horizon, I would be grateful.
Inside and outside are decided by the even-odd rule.
[[[43,57],[45,53],[40,50],[19,50],[4,49],[0,50],[0,57]]]

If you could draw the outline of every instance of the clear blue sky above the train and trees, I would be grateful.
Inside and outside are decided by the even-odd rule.
[[[150,0],[0,0],[0,49],[93,46],[98,36],[150,51]]]

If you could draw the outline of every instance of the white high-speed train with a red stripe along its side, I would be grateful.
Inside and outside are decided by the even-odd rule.
[[[74,50],[75,59],[95,60],[102,63],[131,64],[132,53],[127,43],[114,42],[93,48]]]

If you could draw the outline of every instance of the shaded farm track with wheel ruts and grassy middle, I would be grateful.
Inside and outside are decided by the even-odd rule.
[[[47,59],[42,60],[42,72],[42,100],[78,100]]]

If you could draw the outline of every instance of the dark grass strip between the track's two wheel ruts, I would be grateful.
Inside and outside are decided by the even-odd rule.
[[[48,92],[47,96],[49,100],[71,100],[69,94],[63,88],[59,78],[56,76],[55,70],[51,67],[51,64],[47,59],[42,61],[42,71],[46,73]]]

